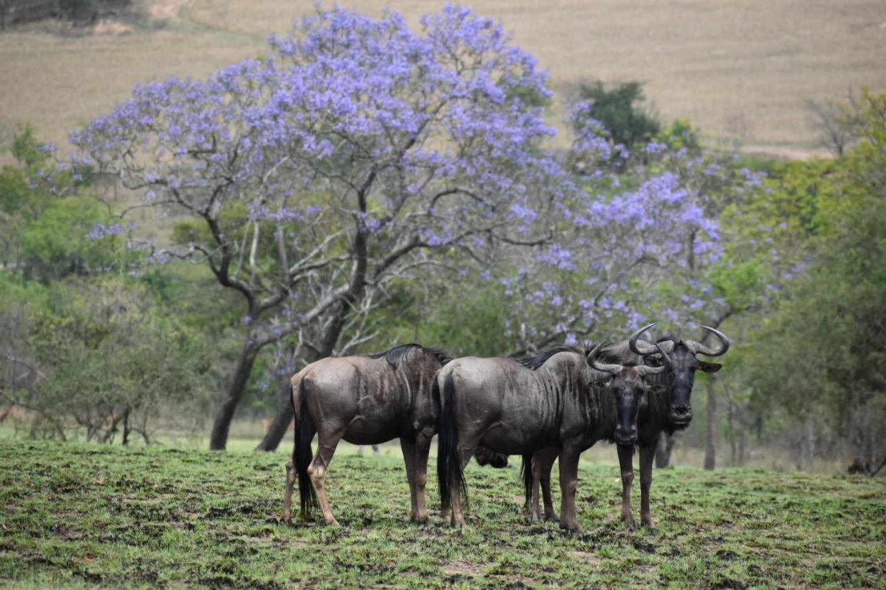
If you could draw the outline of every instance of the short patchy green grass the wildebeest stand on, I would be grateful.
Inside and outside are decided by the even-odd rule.
[[[661,470],[657,530],[618,522],[614,465],[583,464],[579,523],[529,524],[517,469],[468,469],[469,526],[408,522],[397,457],[346,454],[342,524],[281,522],[282,454],[0,441],[0,583],[16,586],[881,586],[886,481]],[[431,506],[438,501],[430,486]],[[634,508],[639,508],[639,492]]]

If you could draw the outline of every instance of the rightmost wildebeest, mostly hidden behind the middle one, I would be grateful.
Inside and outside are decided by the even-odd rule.
[[[652,485],[652,461],[661,432],[672,434],[689,425],[692,409],[689,399],[697,370],[717,372],[721,365],[699,361],[696,354],[720,356],[729,349],[729,339],[718,330],[703,326],[720,340],[719,349],[711,349],[694,340],[674,341],[661,338],[657,344],[639,341],[641,334],[656,324],[650,323],[635,331],[631,338],[602,349],[600,360],[625,365],[640,363],[660,364],[667,370],[649,377],[649,390],[637,416],[636,446],[640,447],[640,519],[653,526],[649,513],[649,487]],[[612,440],[610,440],[612,442]],[[618,441],[617,441],[618,442]],[[556,460],[556,449],[545,449],[532,455],[532,469],[526,469],[530,457],[524,456],[524,486],[526,503],[532,505],[532,520],[540,517],[539,486],[544,499],[545,519],[555,520],[554,502],[550,492],[550,473]],[[631,487],[633,485],[633,445],[618,445],[618,464],[621,469],[622,502],[621,519],[633,528],[631,513]]]

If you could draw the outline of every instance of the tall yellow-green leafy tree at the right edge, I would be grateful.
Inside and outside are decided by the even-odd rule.
[[[865,139],[792,185],[805,188],[797,229],[811,264],[759,331],[750,375],[762,400],[819,415],[870,452],[886,419],[886,96],[862,101]]]

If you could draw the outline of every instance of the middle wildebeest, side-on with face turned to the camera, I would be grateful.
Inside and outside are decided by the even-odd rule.
[[[664,366],[597,364],[600,349],[563,346],[524,361],[466,357],[439,370],[433,386],[440,400],[437,477],[453,526],[464,524],[462,470],[482,445],[501,454],[559,449],[560,524],[579,528],[575,491],[581,450],[600,438],[602,424],[618,422],[618,437],[633,440],[646,390],[643,377],[664,371]]]

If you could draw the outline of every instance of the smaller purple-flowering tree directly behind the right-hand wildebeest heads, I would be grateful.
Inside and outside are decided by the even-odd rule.
[[[592,332],[619,338],[653,321],[719,325],[745,305],[724,286],[737,262],[719,219],[760,190],[760,179],[734,166],[732,154],[685,148],[678,138],[632,157],[586,111],[576,105],[568,121],[575,140],[564,167],[580,189],[554,204],[554,239],[485,276],[513,311],[507,330],[517,352]],[[618,158],[623,165],[613,166]]]

